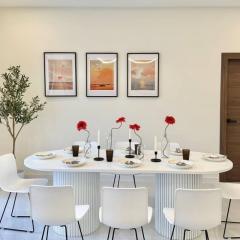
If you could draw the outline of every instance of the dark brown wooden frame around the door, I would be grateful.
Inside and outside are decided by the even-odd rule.
[[[228,62],[229,60],[240,59],[240,53],[222,53],[221,67],[221,102],[220,102],[220,153],[227,153],[227,84],[228,84]],[[224,173],[220,174],[220,180],[226,180]]]

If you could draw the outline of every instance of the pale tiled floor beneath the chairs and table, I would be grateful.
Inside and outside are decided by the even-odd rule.
[[[3,203],[5,202],[6,194],[0,193],[0,207],[2,209]],[[26,214],[28,209],[28,203],[27,198],[19,197],[19,200],[17,202],[16,206],[16,213],[17,214]],[[239,211],[239,209],[236,209]],[[234,211],[234,210],[233,210]],[[239,212],[240,213],[240,212]],[[3,224],[7,225],[9,227],[23,227],[27,228],[29,227],[29,219],[12,219],[10,217],[10,208],[8,208],[6,212],[6,217],[4,218]],[[41,233],[42,233],[42,226],[35,224],[36,230],[35,233],[19,233],[19,232],[12,232],[12,231],[4,231],[0,230],[0,240],[40,240],[41,239]],[[85,240],[104,240],[107,239],[107,228],[105,226],[101,226],[98,231],[96,231],[94,234],[85,236]],[[56,233],[54,233],[53,230],[50,230],[49,240],[61,240],[65,239],[63,236],[59,236]],[[222,240],[222,233],[223,233],[223,225],[220,227],[213,229],[209,231],[209,236],[211,240]],[[228,233],[232,235],[240,235],[240,225],[229,225],[228,227]],[[149,240],[163,240],[166,238],[161,237],[158,235],[154,230],[154,223],[152,223],[149,226],[145,227],[145,235],[146,239]],[[80,238],[71,238],[71,240],[74,239],[80,239]],[[134,231],[116,231],[115,234],[115,240],[128,240],[133,239],[135,240]],[[142,236],[139,232],[139,240],[142,240]],[[204,236],[200,236],[197,239],[205,239]]]

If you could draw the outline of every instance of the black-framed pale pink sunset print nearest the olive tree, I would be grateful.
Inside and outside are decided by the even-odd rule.
[[[76,53],[44,52],[44,83],[46,97],[77,96]]]

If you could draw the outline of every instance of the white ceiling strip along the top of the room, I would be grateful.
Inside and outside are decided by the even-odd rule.
[[[240,0],[0,0],[0,7],[240,7]]]

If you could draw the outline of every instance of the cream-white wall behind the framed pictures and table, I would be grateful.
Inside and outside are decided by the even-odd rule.
[[[35,151],[71,145],[82,136],[80,119],[93,138],[119,116],[142,126],[144,143],[162,135],[172,114],[172,141],[200,151],[219,150],[221,52],[240,52],[240,9],[0,9],[0,72],[20,64],[32,81],[29,95],[48,102],[17,143],[19,166]],[[78,97],[45,98],[44,51],[76,51]],[[119,97],[85,97],[85,52],[119,53]],[[159,51],[160,97],[126,97],[126,53]],[[104,140],[104,136],[103,139]],[[126,139],[127,128],[115,139]],[[0,126],[0,154],[10,138]]]

